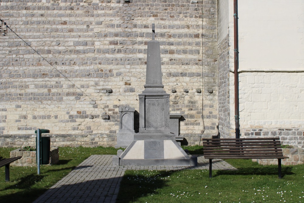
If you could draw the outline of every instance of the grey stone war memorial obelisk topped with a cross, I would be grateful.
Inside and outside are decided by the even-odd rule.
[[[194,166],[197,157],[189,157],[175,141],[169,127],[169,94],[163,89],[160,43],[148,42],[146,84],[139,94],[139,132],[125,151],[118,150],[113,165],[119,166]]]

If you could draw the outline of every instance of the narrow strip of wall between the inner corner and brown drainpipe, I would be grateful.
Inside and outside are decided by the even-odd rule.
[[[234,76],[233,70],[233,23],[231,25],[233,1],[217,1],[218,29],[218,105],[219,105],[219,136],[230,138],[235,134],[234,127]],[[232,16],[233,17],[233,16]],[[233,119],[233,120],[231,120]]]

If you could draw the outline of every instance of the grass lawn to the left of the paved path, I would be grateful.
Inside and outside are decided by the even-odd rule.
[[[16,148],[0,148],[0,155],[9,158],[9,152]],[[53,166],[10,167],[10,182],[5,182],[5,167],[0,168],[0,203],[33,202],[52,185],[66,176],[78,164],[92,154],[116,154],[114,147],[60,147],[59,163]]]

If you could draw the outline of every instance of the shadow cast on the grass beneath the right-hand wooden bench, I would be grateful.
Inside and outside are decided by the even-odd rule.
[[[292,174],[295,174],[292,172],[292,167],[282,167],[282,177]],[[219,175],[278,175],[278,166],[248,167],[239,168],[237,170],[218,170],[213,177]]]

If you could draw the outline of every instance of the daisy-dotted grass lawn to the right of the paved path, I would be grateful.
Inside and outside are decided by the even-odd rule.
[[[192,149],[193,148],[193,149]],[[198,152],[199,147],[188,149]],[[128,170],[117,203],[125,202],[304,202],[304,165],[261,166],[251,160],[227,159],[238,170]]]

